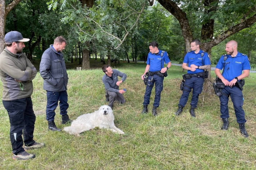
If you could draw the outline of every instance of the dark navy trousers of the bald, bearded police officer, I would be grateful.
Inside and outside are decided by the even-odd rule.
[[[222,95],[220,96],[220,117],[229,118],[229,96],[233,102],[235,116],[237,117],[237,123],[246,123],[246,119],[244,118],[245,114],[243,110],[243,93],[241,89],[237,86],[234,86],[232,88],[230,88],[229,86],[225,86],[222,89]]]

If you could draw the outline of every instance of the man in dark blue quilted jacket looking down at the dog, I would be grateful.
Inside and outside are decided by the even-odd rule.
[[[44,51],[40,63],[40,75],[44,79],[44,89],[47,92],[46,119],[48,129],[61,131],[54,123],[55,109],[58,106],[62,115],[62,124],[70,123],[67,115],[67,70],[62,50],[65,49],[66,40],[62,36],[54,39],[53,45]]]

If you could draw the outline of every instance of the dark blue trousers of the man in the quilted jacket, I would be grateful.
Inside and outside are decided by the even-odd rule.
[[[47,91],[47,105],[46,105],[46,120],[53,121],[55,116],[55,109],[58,106],[61,115],[67,114],[67,108],[69,104],[67,103],[67,91],[61,92],[51,92]]]

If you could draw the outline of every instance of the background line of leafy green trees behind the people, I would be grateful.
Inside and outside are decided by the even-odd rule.
[[[79,60],[84,69],[89,69],[91,55],[102,62],[107,57],[110,65],[111,60],[146,61],[151,41],[181,63],[194,38],[201,40],[212,63],[225,54],[225,43],[231,39],[238,41],[238,50],[251,64],[256,63],[255,0],[5,0],[4,4],[1,15],[8,12],[4,32],[17,30],[30,38],[24,51],[31,61],[40,59],[62,35],[67,40],[66,60]]]

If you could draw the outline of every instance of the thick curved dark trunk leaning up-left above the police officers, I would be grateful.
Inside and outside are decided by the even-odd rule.
[[[186,44],[186,51],[190,50],[190,42],[193,40],[193,35],[189,26],[189,21],[186,13],[172,0],[158,0],[158,2],[167,9],[180,23],[182,35]]]

